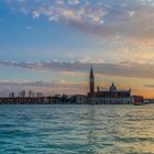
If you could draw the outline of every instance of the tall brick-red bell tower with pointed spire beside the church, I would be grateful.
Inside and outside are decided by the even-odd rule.
[[[92,66],[91,66],[91,70],[90,70],[90,82],[89,82],[89,94],[90,96],[94,96],[95,95],[95,76],[94,76],[94,69],[92,69]]]

